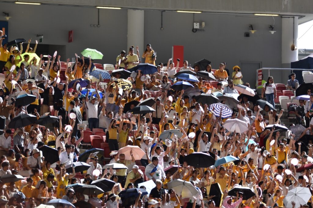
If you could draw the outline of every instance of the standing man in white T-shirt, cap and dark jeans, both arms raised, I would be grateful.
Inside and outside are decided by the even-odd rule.
[[[90,89],[88,89],[87,95],[89,94]],[[90,131],[93,128],[99,127],[99,119],[98,119],[98,104],[100,102],[100,94],[98,89],[96,88],[97,97],[91,95],[90,99],[86,96],[86,105],[88,108],[88,127]]]

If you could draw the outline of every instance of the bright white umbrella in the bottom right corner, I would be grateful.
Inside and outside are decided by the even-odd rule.
[[[286,208],[291,208],[291,202],[295,202],[295,207],[300,207],[300,205],[305,205],[311,198],[311,192],[309,188],[296,187],[288,191],[283,202]]]

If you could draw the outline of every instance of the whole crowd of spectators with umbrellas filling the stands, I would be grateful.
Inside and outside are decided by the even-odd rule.
[[[299,100],[296,124],[285,126],[283,110],[275,108],[274,78],[264,83],[260,96],[247,95],[238,90],[250,87],[238,65],[233,71],[226,62],[217,70],[210,64],[191,67],[187,60],[179,69],[179,59],[156,65],[156,52],[148,44],[141,57],[155,66],[153,73],[140,68],[139,48],[132,46],[114,60],[110,80],[93,82],[89,74],[97,61],[91,56],[75,54],[74,63],[64,59],[63,69],[57,54],[30,59],[37,41],[34,48],[28,41],[28,54],[22,57],[22,44],[8,47],[3,39],[0,115],[6,122],[0,135],[0,207],[312,207],[311,89],[308,99]],[[122,82],[128,87],[120,84],[125,73]],[[79,79],[88,85],[79,87]],[[299,86],[291,74],[286,89]],[[23,105],[18,102],[23,94],[36,98]],[[26,115],[36,117],[35,122],[11,127]],[[51,119],[49,115],[57,117],[51,125],[37,123]],[[84,134],[95,129],[104,132],[101,139],[108,148],[88,153]],[[51,162],[53,151],[47,152],[47,146],[57,151],[58,161]],[[88,168],[77,172],[78,161]],[[114,184],[110,190],[99,193],[92,186],[94,192],[86,194],[89,185],[103,180]],[[298,194],[302,201],[288,198],[297,188],[308,191]],[[57,199],[71,204],[51,204]]]

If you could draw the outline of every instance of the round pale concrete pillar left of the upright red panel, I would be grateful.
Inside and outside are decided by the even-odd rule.
[[[130,46],[135,46],[134,53],[136,54],[136,46],[139,46],[139,56],[141,57],[144,47],[144,17],[143,10],[127,10],[127,47],[126,53]],[[139,60],[140,60],[139,57]]]

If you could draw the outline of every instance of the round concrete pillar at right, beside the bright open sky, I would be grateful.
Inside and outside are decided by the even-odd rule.
[[[283,17],[281,31],[281,67],[290,68],[290,62],[298,60],[298,50],[291,51],[291,45],[293,44],[294,35],[295,46],[297,46],[298,17]]]

